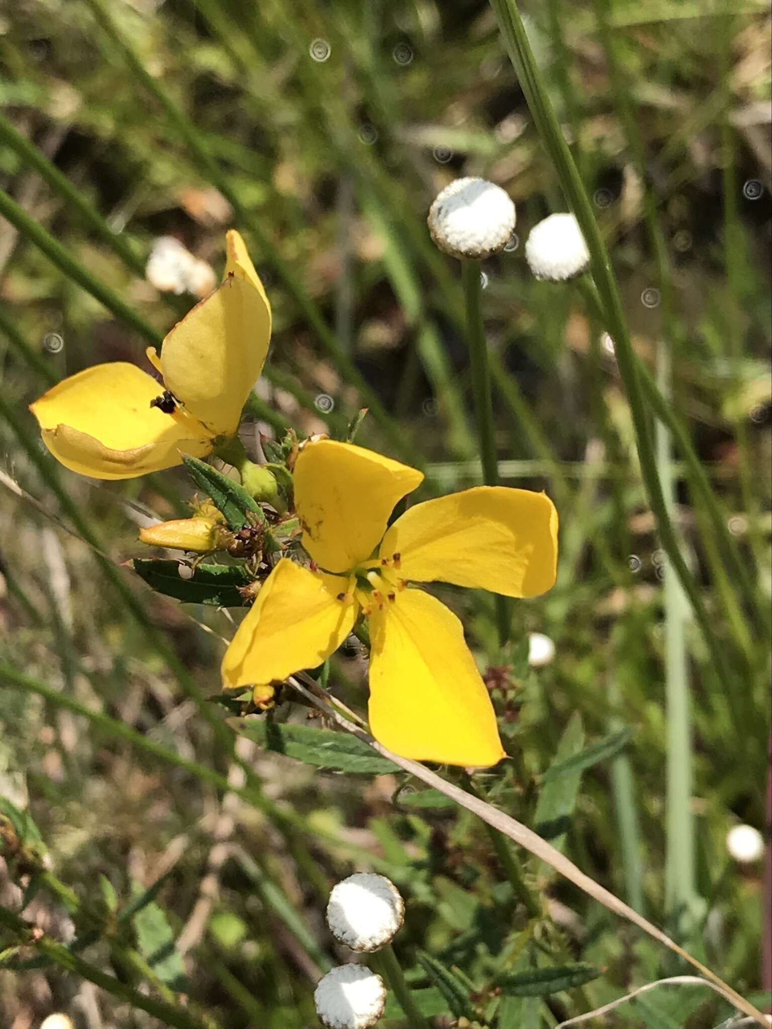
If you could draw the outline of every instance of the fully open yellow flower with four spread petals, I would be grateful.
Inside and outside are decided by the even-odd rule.
[[[503,757],[495,713],[461,623],[409,581],[507,597],[555,581],[558,518],[542,493],[479,486],[392,508],[420,471],[350,443],[307,443],[294,496],[312,568],[279,561],[222,662],[225,686],[272,682],[325,661],[361,610],[370,619],[370,725],[406,757],[490,766]],[[376,549],[377,548],[377,549]]]

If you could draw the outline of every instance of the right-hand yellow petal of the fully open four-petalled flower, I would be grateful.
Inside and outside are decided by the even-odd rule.
[[[477,486],[409,508],[380,554],[399,555],[399,574],[536,597],[555,583],[558,512],[543,493]]]

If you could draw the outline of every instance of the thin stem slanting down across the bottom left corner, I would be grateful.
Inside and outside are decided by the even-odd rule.
[[[105,990],[118,1000],[122,1000],[141,1012],[146,1012],[163,1022],[164,1025],[171,1026],[172,1029],[216,1029],[216,1023],[211,1018],[201,1022],[181,1008],[146,997],[129,986],[128,983],[106,974],[100,968],[73,954],[63,944],[57,943],[56,939],[45,934],[41,935],[37,926],[3,907],[0,907],[0,925],[14,933],[23,946],[34,947],[61,968],[94,983],[95,986]]]

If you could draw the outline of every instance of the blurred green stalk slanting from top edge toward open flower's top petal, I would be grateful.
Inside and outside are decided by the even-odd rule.
[[[245,226],[249,236],[257,241],[260,251],[266,259],[273,265],[284,286],[292,296],[300,311],[308,320],[320,342],[323,344],[336,367],[342,377],[354,385],[362,396],[365,404],[378,421],[379,425],[386,433],[390,443],[395,450],[407,455],[409,448],[406,446],[403,433],[398,430],[393,419],[386,412],[377,393],[371,388],[364,377],[356,367],[352,359],[341,346],[316,304],[308,295],[305,288],[296,277],[292,274],[289,265],[283,260],[279,251],[271,242],[267,234],[262,230],[257,218],[247,210],[241,203],[238,194],[234,191],[227,177],[224,175],[217,161],[212,156],[208,147],[202,142],[202,136],[187,114],[180,108],[171,97],[162,88],[157,79],[147,71],[140,58],[124,38],[122,33],[115,24],[105,0],[83,0],[91,9],[96,21],[104,30],[106,35],[121,54],[130,69],[145,88],[161,104],[169,118],[171,125],[177,130],[182,140],[190,148],[200,168],[208,176],[213,185],[219,189],[234,209],[237,217]],[[412,458],[415,462],[415,455]]]

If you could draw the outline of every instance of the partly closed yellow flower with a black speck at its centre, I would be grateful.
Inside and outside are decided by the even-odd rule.
[[[271,306],[241,236],[227,233],[225,276],[147,356],[164,384],[135,364],[96,364],[59,383],[30,410],[65,467],[132,478],[204,457],[232,436],[271,338]]]

